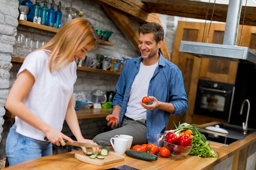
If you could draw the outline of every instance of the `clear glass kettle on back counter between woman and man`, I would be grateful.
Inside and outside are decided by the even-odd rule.
[[[93,108],[101,108],[101,104],[107,101],[107,96],[100,89],[92,91]]]

